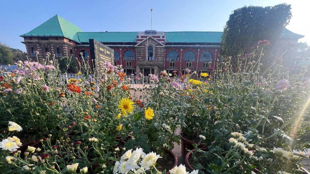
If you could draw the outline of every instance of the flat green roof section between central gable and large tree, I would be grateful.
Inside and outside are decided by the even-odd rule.
[[[222,35],[223,32],[198,32],[198,31],[165,32],[166,43],[170,42],[220,43]]]

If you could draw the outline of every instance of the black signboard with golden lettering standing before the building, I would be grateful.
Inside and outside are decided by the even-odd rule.
[[[94,61],[93,72],[97,71],[99,74],[101,74],[104,68],[104,62],[110,62],[112,65],[114,64],[113,49],[105,46],[95,39],[89,39],[89,49],[91,51],[91,59]]]

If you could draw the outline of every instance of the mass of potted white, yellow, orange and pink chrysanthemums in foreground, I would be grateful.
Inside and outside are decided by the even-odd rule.
[[[263,43],[237,67],[162,71],[140,89],[110,63],[63,84],[55,56],[19,61],[0,76],[0,173],[305,173],[308,66],[261,70]]]

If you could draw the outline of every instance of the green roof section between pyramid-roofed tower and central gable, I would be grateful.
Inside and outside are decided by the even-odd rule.
[[[80,42],[95,39],[99,42],[136,42],[138,32],[78,32]]]

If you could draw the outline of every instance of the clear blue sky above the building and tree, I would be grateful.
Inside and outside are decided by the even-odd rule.
[[[26,50],[20,43],[24,34],[58,14],[82,31],[223,31],[229,15],[243,6],[292,5],[291,23],[294,33],[306,35],[299,41],[310,42],[309,1],[288,0],[156,0],[156,1],[92,1],[92,0],[6,0],[2,1],[0,42]]]

